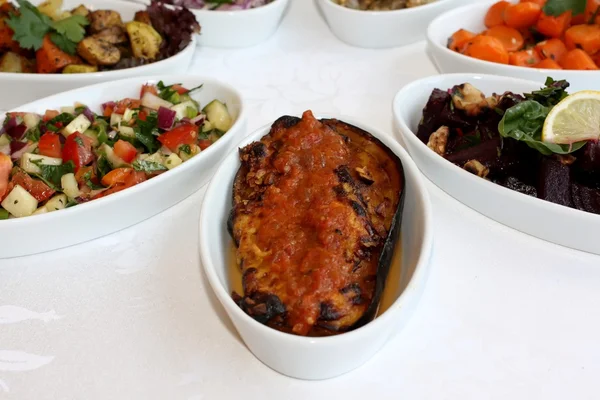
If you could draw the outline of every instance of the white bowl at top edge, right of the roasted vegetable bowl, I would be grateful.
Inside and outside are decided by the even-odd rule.
[[[249,47],[267,40],[279,26],[289,0],[274,0],[249,10],[194,10],[202,27],[197,36],[199,46]]]

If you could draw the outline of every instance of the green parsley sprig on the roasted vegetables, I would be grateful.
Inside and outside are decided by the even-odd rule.
[[[37,7],[25,0],[17,0],[20,15],[11,15],[7,21],[14,31],[13,39],[24,49],[39,50],[52,21]]]

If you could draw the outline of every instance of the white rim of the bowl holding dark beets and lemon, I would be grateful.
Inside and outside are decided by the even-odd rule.
[[[465,171],[464,169],[460,168],[459,166],[455,165],[454,163],[435,154],[431,149],[429,149],[427,147],[427,145],[425,143],[423,143],[421,140],[419,140],[419,138],[417,138],[416,133],[408,125],[408,121],[406,121],[402,117],[402,112],[399,110],[398,105],[401,102],[405,101],[407,98],[409,99],[410,93],[414,92],[416,89],[422,90],[422,87],[429,83],[434,83],[434,82],[441,83],[441,82],[447,82],[447,81],[467,82],[468,80],[471,80],[471,81],[473,81],[473,80],[495,80],[498,83],[513,82],[513,83],[527,84],[527,85],[532,85],[532,86],[540,85],[539,82],[531,81],[528,79],[519,79],[519,78],[511,78],[511,77],[500,76],[500,75],[477,74],[477,73],[440,74],[440,75],[434,75],[434,76],[429,76],[429,77],[425,77],[422,79],[418,79],[418,80],[413,81],[413,82],[409,83],[408,85],[404,86],[402,89],[400,89],[398,91],[398,93],[396,94],[396,96],[394,96],[394,100],[392,103],[394,119],[396,120],[396,122],[398,124],[400,124],[401,129],[399,129],[399,131],[400,131],[400,135],[401,135],[402,139],[410,142],[411,146],[416,146],[419,149],[419,151],[423,151],[424,153],[428,154],[429,159],[433,160],[433,162],[435,162],[438,166],[448,167],[450,170],[454,171],[455,173],[460,174],[460,176],[463,179],[467,179],[472,184],[483,185],[484,187],[486,187],[488,190],[490,190],[496,196],[508,196],[511,200],[513,200],[515,202],[522,202],[522,203],[524,202],[528,206],[540,208],[544,212],[565,213],[567,217],[586,218],[586,219],[596,220],[597,223],[600,224],[600,214],[593,214],[593,213],[578,210],[575,208],[562,206],[562,205],[552,203],[552,202],[549,202],[546,200],[538,199],[537,197],[531,197],[526,194],[517,192],[515,190],[505,188],[504,186],[500,186],[500,185],[490,182],[486,179],[481,179],[480,177],[475,176],[475,175],[471,174],[470,172]],[[457,83],[450,83],[450,84],[453,86],[453,85],[456,85]],[[425,104],[423,104],[423,107],[425,107]],[[434,157],[434,154],[435,154],[435,157]],[[417,164],[417,167],[419,167],[418,164]],[[421,170],[420,167],[419,167],[419,170]],[[436,186],[438,186],[437,183],[435,183],[435,182],[433,182],[433,183]],[[466,203],[463,203],[462,201],[456,199],[456,197],[454,197],[452,195],[450,195],[450,196],[452,198],[454,198],[455,200],[459,201],[460,203],[466,205],[467,207],[472,208],[471,206],[468,206]],[[486,217],[491,218],[488,215],[486,215]],[[506,224],[503,224],[503,225],[506,225]],[[516,228],[514,228],[514,229],[516,229]],[[519,229],[517,229],[517,230],[519,230]],[[544,239],[544,240],[546,240],[546,239]]]

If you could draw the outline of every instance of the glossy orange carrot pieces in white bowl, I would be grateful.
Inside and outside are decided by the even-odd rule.
[[[485,31],[459,29],[448,48],[519,67],[597,70],[599,11],[597,0],[499,1],[485,15]]]

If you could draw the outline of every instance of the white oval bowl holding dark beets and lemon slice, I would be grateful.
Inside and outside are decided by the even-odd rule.
[[[564,207],[479,178],[434,153],[416,136],[431,91],[469,82],[486,94],[531,92],[540,84],[514,78],[475,74],[432,76],[412,82],[393,103],[396,128],[411,157],[433,183],[450,196],[502,224],[563,246],[600,254],[595,235],[600,215]]]

